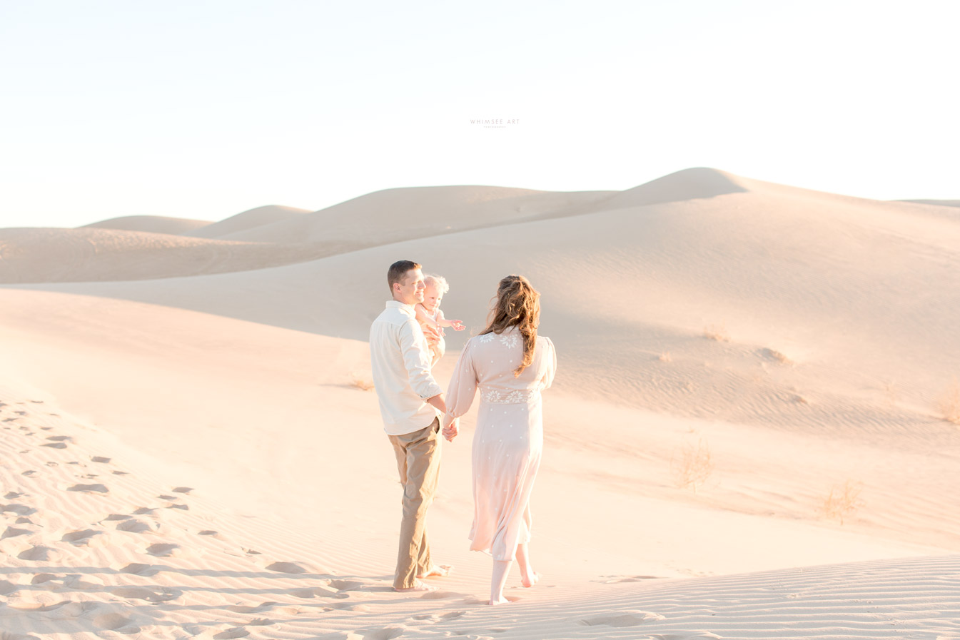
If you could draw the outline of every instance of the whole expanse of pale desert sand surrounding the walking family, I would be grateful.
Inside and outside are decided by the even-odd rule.
[[[696,169],[256,211],[218,239],[0,231],[0,640],[960,637],[950,207]],[[543,294],[546,578],[509,606],[465,541],[472,412],[430,515],[456,571],[389,591],[364,341],[398,258],[470,332],[502,275]]]

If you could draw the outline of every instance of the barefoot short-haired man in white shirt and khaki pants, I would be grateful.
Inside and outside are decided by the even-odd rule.
[[[444,393],[430,373],[430,349],[416,319],[414,305],[423,301],[420,265],[400,260],[387,271],[393,299],[373,320],[370,358],[373,386],[380,402],[383,429],[396,454],[403,486],[403,519],[396,557],[396,591],[433,591],[418,579],[446,576],[448,567],[430,559],[426,510],[437,492],[440,474],[440,419],[446,413]],[[457,435],[454,421],[444,437]]]

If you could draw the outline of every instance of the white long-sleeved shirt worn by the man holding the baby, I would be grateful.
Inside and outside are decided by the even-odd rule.
[[[370,327],[370,360],[383,430],[402,436],[429,426],[439,412],[426,399],[444,390],[430,373],[430,348],[411,305],[387,300]]]

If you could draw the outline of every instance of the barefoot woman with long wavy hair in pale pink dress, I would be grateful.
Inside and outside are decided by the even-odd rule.
[[[473,526],[470,549],[493,557],[490,604],[504,604],[511,565],[523,586],[540,576],[530,565],[530,494],[540,468],[540,391],[553,382],[557,355],[537,336],[540,294],[522,275],[500,280],[487,328],[470,338],[446,394],[444,427],[467,413],[480,390],[473,435]]]

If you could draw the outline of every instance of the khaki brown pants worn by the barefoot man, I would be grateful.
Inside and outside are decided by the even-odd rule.
[[[426,510],[437,493],[440,477],[440,419],[402,436],[390,436],[396,469],[403,486],[403,519],[396,557],[394,586],[404,589],[417,583],[417,575],[430,568],[430,545],[426,539]]]

